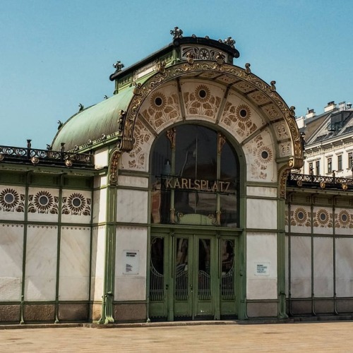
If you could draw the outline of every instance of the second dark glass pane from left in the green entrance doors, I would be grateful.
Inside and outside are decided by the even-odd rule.
[[[189,297],[189,240],[177,239],[175,258],[175,299],[188,300]]]

